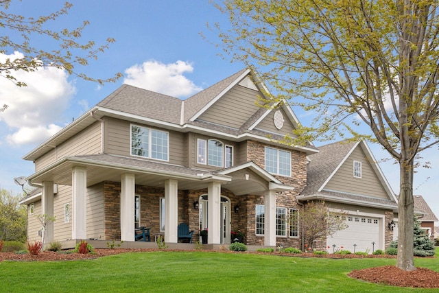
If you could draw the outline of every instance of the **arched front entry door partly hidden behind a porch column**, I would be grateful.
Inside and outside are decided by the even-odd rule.
[[[200,230],[204,228],[209,229],[208,219],[208,197],[207,195],[200,196],[199,205],[199,219]],[[221,231],[221,244],[230,244],[230,200],[225,196],[221,196],[221,204],[219,206],[220,211],[220,231]]]

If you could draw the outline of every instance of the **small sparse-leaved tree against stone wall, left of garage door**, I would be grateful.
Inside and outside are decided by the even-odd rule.
[[[322,200],[307,202],[299,211],[299,226],[305,240],[303,245],[315,247],[316,240],[347,228],[346,216],[344,211],[329,211]]]

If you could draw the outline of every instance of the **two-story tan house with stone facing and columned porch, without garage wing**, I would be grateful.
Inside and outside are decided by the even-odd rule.
[[[255,103],[265,93],[250,68],[185,100],[124,84],[24,156],[40,187],[23,200],[29,241],[40,239],[32,214],[47,214],[47,243],[64,247],[133,242],[140,226],[178,243],[180,223],[195,241],[208,228],[213,245],[239,230],[249,245],[299,247],[296,196],[318,150],[276,143],[298,119],[283,101]]]

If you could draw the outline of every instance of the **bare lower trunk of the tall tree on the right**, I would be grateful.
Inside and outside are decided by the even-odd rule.
[[[396,267],[401,268],[401,270],[416,270],[413,257],[413,167],[413,163],[400,162],[401,178],[398,200],[399,236]]]

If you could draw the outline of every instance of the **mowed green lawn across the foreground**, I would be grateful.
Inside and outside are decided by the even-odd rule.
[[[0,292],[439,292],[366,283],[351,270],[395,259],[214,252],[123,253],[86,261],[3,261]],[[439,271],[439,259],[416,259]]]

